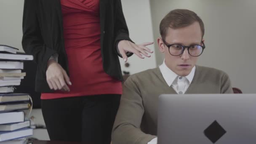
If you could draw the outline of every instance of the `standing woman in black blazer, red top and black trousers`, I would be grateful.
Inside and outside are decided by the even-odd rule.
[[[132,43],[120,0],[24,0],[23,15],[50,139],[109,144],[122,94],[117,55],[150,57],[152,43]]]

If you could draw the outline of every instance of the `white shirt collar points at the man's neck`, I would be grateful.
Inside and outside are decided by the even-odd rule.
[[[163,75],[163,78],[165,79],[165,82],[171,86],[173,81],[176,79],[176,77],[179,77],[175,72],[173,72],[171,69],[169,69],[166,64],[165,60],[163,61],[163,64],[160,65],[160,71]],[[186,76],[187,80],[189,80],[189,84],[191,84],[193,78],[195,75],[195,66],[192,68],[191,72],[189,75]]]

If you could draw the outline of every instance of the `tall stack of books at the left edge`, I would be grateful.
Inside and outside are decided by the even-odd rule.
[[[17,53],[17,48],[0,45],[0,144],[27,144],[33,135],[30,121],[23,110],[32,109],[29,94],[14,93],[16,85],[26,76],[23,61],[33,56]]]

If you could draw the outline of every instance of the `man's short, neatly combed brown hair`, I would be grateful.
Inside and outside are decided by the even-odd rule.
[[[186,9],[175,9],[173,11],[170,11],[162,19],[160,23],[160,35],[163,39],[165,39],[169,27],[171,27],[172,29],[187,27],[196,21],[200,24],[203,38],[205,28],[202,19],[197,16],[197,14],[193,11],[189,11]]]

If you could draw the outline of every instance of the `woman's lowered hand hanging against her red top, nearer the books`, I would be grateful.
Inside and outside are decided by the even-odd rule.
[[[70,91],[68,85],[72,85],[67,72],[53,59],[47,63],[46,80],[49,87],[55,91]]]

